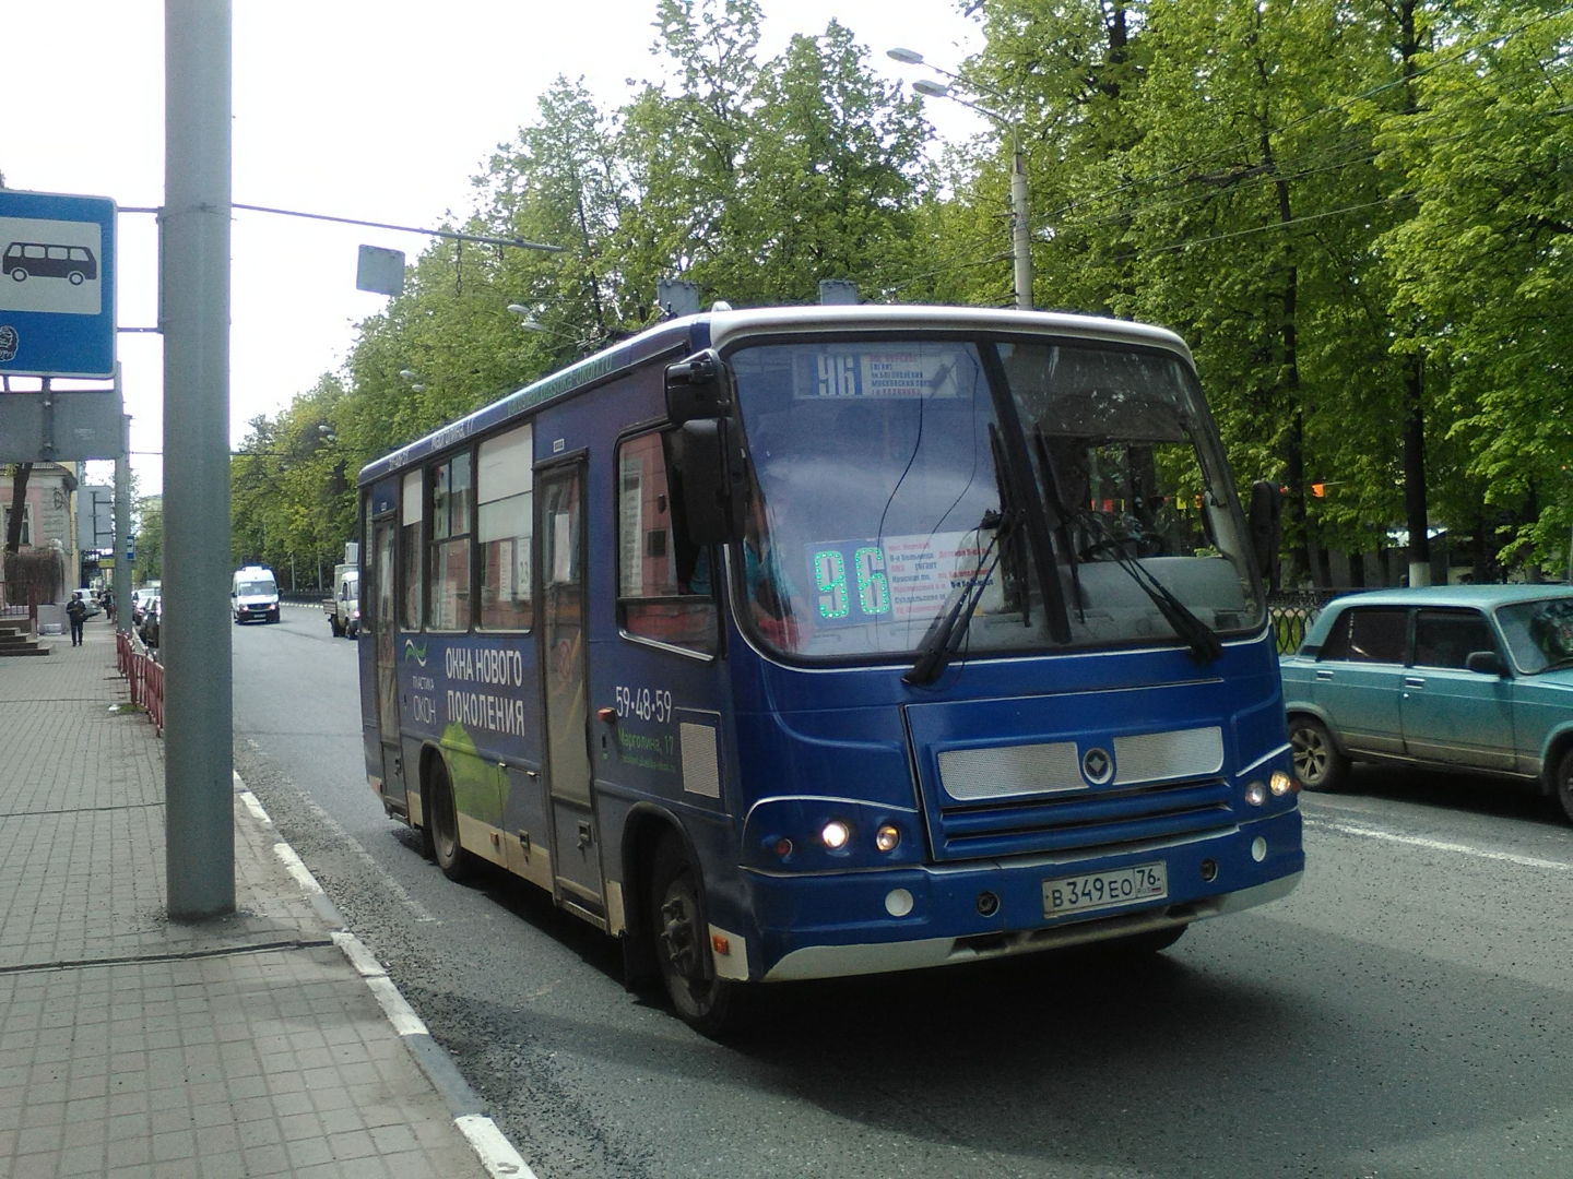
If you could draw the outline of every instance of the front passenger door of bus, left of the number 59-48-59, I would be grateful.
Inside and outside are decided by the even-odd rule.
[[[585,468],[574,461],[536,476],[541,538],[541,715],[546,725],[552,871],[558,901],[604,920],[601,847],[590,794],[588,575]]]

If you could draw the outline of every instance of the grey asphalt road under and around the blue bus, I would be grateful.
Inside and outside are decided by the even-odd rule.
[[[241,777],[541,1179],[1573,1174],[1573,827],[1512,784],[1362,769],[1304,797],[1293,896],[1151,960],[780,989],[722,1047],[530,885],[420,858],[319,610],[236,629],[234,723]]]

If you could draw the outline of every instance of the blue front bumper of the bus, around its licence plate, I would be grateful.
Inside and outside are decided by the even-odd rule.
[[[763,975],[755,976],[777,982],[922,970],[1235,913],[1295,891],[1306,866],[1299,835],[1296,810],[1205,839],[1076,861],[980,861],[813,877],[749,872],[764,951]],[[1257,838],[1268,847],[1262,861],[1251,852]],[[1159,901],[1059,918],[1043,913],[1046,880],[1153,861],[1162,861],[1169,877],[1169,894]],[[1205,879],[1206,865],[1211,879]],[[911,896],[904,916],[889,912],[887,898],[897,890]],[[978,905],[985,893],[999,902],[989,915]],[[815,923],[816,913],[831,920]]]

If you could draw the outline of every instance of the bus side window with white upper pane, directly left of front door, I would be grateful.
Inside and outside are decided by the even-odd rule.
[[[481,443],[475,468],[475,560],[480,563],[481,610],[488,630],[529,630],[530,541],[533,539],[530,470],[532,428],[521,426]]]

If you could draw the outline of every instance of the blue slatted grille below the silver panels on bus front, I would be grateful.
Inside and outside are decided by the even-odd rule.
[[[933,821],[939,860],[1041,852],[1092,852],[1120,844],[1232,827],[1222,780],[1079,791],[993,805],[941,806]]]

